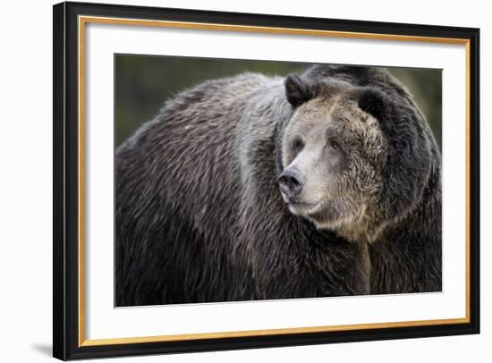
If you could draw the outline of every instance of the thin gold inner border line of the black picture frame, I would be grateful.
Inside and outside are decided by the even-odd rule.
[[[302,35],[302,36],[319,36],[332,38],[360,38],[386,41],[411,41],[411,42],[428,42],[458,44],[465,46],[466,57],[466,241],[465,241],[465,317],[449,319],[430,319],[404,322],[387,322],[387,323],[370,323],[354,325],[322,325],[308,327],[293,327],[282,329],[263,329],[263,330],[246,330],[237,332],[215,332],[215,333],[185,333],[185,334],[167,334],[157,336],[129,337],[129,338],[110,338],[110,339],[85,339],[85,234],[84,234],[84,216],[85,216],[85,25],[87,23],[98,24],[118,24],[145,27],[163,27],[174,29],[194,29],[194,30],[218,30],[234,32],[253,32],[267,34],[284,34],[284,35]],[[79,16],[78,19],[78,72],[79,72],[79,346],[98,346],[112,344],[142,343],[142,342],[172,342],[172,341],[191,341],[198,339],[217,339],[217,338],[237,338],[250,336],[278,335],[278,334],[296,334],[296,333],[322,333],[322,332],[339,332],[351,331],[358,329],[380,329],[394,327],[424,326],[424,325],[451,325],[470,323],[470,40],[462,38],[437,38],[437,37],[413,37],[405,35],[388,35],[377,33],[357,33],[350,31],[334,30],[308,30],[292,28],[275,28],[259,27],[233,24],[216,24],[206,22],[186,22],[186,21],[150,21],[124,18],[108,18],[98,16]]]

